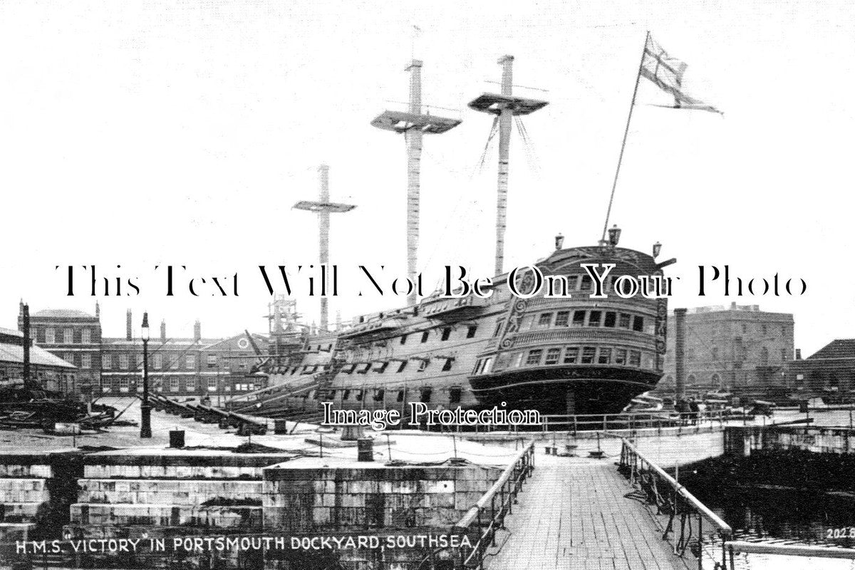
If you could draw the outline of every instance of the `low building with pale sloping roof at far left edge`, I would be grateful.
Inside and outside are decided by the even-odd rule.
[[[30,347],[30,378],[46,390],[74,391],[77,370],[61,358]],[[20,331],[0,328],[0,387],[24,382],[24,335]]]

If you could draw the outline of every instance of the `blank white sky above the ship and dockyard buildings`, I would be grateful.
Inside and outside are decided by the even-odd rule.
[[[370,121],[408,97],[463,120],[424,138],[419,267],[492,276],[496,142],[466,103],[497,91],[550,102],[511,140],[505,267],[595,244],[604,222],[646,31],[689,64],[684,85],[722,109],[666,109],[642,79],[611,220],[621,245],[678,262],[674,307],[758,304],[792,313],[806,355],[855,337],[850,167],[855,4],[848,2],[135,2],[0,3],[0,326],[32,311],[101,304],[105,334],[146,310],[170,336],[265,332],[257,266],[317,262],[316,169],[330,166],[332,319],[404,304],[364,287],[404,275],[402,136]],[[418,26],[417,33],[413,26]],[[522,87],[536,88],[535,90]],[[442,110],[439,108],[451,109]],[[69,265],[131,279],[91,297]],[[239,274],[239,296],[182,279]],[[797,297],[698,295],[698,267],[733,278],[805,279]],[[56,266],[60,266],[59,270]],[[116,267],[121,266],[121,267]],[[345,279],[346,277],[346,279]],[[199,285],[199,282],[196,282]],[[363,296],[358,292],[363,291]],[[214,293],[214,294],[212,294]],[[318,319],[316,298],[298,310]]]

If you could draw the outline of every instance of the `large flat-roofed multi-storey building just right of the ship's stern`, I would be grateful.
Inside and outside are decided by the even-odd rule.
[[[660,396],[675,391],[675,326],[669,315],[665,373]],[[700,396],[728,391],[743,398],[778,398],[782,367],[793,360],[793,315],[761,311],[758,305],[698,307],[686,314],[686,391]]]

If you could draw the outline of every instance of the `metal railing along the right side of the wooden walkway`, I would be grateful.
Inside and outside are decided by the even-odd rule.
[[[676,555],[683,556],[686,550],[698,560],[699,570],[703,570],[702,553],[704,543],[704,520],[722,540],[721,565],[728,568],[728,550],[726,544],[733,533],[730,526],[700,502],[686,487],[680,485],[662,467],[648,460],[631,442],[621,438],[621,461],[618,470],[637,486],[645,495],[645,501],[657,509],[657,514],[669,517],[662,538],[671,544]],[[695,525],[696,526],[693,526]],[[694,529],[697,528],[697,535]],[[730,568],[733,568],[733,554],[730,555]]]

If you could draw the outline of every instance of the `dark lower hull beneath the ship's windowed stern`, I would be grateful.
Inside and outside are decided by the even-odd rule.
[[[535,409],[551,414],[620,414],[651,390],[660,375],[621,368],[525,370],[470,378],[482,408]]]

